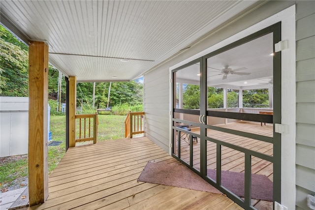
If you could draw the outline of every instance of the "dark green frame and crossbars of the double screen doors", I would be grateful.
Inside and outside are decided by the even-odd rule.
[[[172,137],[173,137],[173,140],[172,140],[173,145],[175,144],[174,132],[176,131],[186,132],[190,134],[190,136],[192,135],[196,136],[196,134],[191,133],[189,131],[181,130],[174,125],[174,123],[178,121],[184,122],[184,123],[189,122],[186,120],[176,119],[174,117],[175,113],[187,113],[187,114],[193,114],[193,115],[200,115],[200,118],[205,117],[205,120],[202,120],[202,122],[194,123],[196,126],[200,127],[200,135],[197,135],[197,137],[200,138],[200,172],[192,167],[192,157],[190,157],[190,164],[186,163],[184,160],[181,159],[180,141],[178,141],[178,147],[177,147],[178,155],[174,154],[174,147],[173,147],[172,156],[174,156],[179,161],[187,165],[191,170],[196,172],[204,180],[207,180],[209,183],[217,187],[219,190],[221,190],[221,192],[226,194],[234,202],[236,202],[238,205],[242,206],[245,209],[254,209],[254,207],[252,207],[251,205],[251,167],[252,167],[251,158],[252,156],[259,157],[261,159],[265,159],[273,163],[273,174],[274,174],[273,200],[278,203],[281,203],[281,134],[275,132],[275,124],[276,123],[281,124],[281,52],[275,53],[275,50],[273,50],[275,54],[273,56],[273,78],[274,78],[274,84],[273,84],[274,115],[273,116],[207,111],[207,59],[269,33],[273,33],[273,49],[274,49],[275,44],[281,41],[281,22],[276,23],[272,26],[269,26],[263,30],[259,30],[255,33],[252,33],[251,35],[247,37],[244,37],[238,41],[235,41],[229,45],[226,45],[225,47],[222,47],[221,49],[218,49],[212,53],[209,53],[203,57],[200,57],[199,59],[190,61],[189,63],[172,70],[172,81],[175,81],[176,78],[174,78],[174,73],[176,71],[179,71],[196,62],[200,62],[200,74],[202,75],[200,77],[200,111],[176,109],[174,107],[174,104],[175,104],[174,95],[175,95],[176,82],[173,82],[173,86],[172,86],[173,87],[173,91],[172,91],[173,93],[172,95],[172,99],[173,99],[172,100],[172,113],[173,113],[172,124],[173,126],[171,130]],[[271,138],[271,137],[246,133],[242,131],[230,130],[230,129],[207,125],[207,122],[206,122],[207,116],[273,123],[274,125],[273,137]],[[273,143],[273,156],[265,155],[265,154],[255,152],[252,150],[247,150],[239,146],[231,145],[231,144],[224,143],[219,140],[207,137],[206,136],[207,129],[215,129],[222,132],[227,132],[227,133],[231,133],[235,135],[257,139],[260,141]],[[207,153],[206,153],[207,141],[211,141],[217,144],[217,181],[212,180],[207,177]],[[191,142],[192,140],[190,138],[190,143]],[[242,199],[240,199],[239,197],[231,193],[229,190],[221,186],[221,146],[229,147],[231,149],[239,150],[245,153],[245,201],[243,201]],[[190,147],[190,156],[192,156],[192,147]]]

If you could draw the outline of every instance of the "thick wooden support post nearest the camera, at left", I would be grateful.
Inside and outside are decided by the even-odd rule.
[[[29,198],[30,206],[48,197],[48,46],[31,41],[29,48]]]

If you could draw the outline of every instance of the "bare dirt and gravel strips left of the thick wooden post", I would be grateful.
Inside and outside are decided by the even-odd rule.
[[[8,157],[0,157],[0,165],[2,165],[4,163],[12,162],[14,160],[27,159],[27,158],[28,158],[27,154],[14,155],[14,156],[8,156]],[[14,181],[12,181],[10,183],[10,186],[8,186],[9,183],[1,183],[1,184],[2,184],[1,192],[19,189],[19,188],[26,187],[29,185],[29,176],[20,177],[20,178],[15,179]]]

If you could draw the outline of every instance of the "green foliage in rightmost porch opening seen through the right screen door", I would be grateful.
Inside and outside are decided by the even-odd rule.
[[[243,107],[269,107],[268,89],[243,90]]]

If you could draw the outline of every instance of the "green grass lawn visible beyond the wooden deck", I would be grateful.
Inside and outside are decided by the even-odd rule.
[[[99,115],[97,142],[125,138],[126,116]],[[65,153],[65,116],[50,116],[52,140],[61,141],[58,146],[48,147],[48,172],[57,167]],[[28,176],[28,159],[12,159],[0,166],[0,188],[10,186],[15,179]]]

